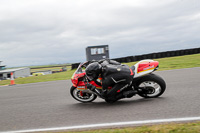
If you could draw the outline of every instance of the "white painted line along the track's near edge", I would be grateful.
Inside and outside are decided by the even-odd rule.
[[[157,119],[157,120],[143,120],[143,121],[127,121],[127,122],[90,124],[90,125],[79,125],[79,126],[69,126],[69,127],[55,127],[55,128],[43,128],[43,129],[6,131],[6,132],[0,132],[0,133],[29,133],[29,132],[58,131],[58,130],[72,130],[72,129],[86,129],[86,128],[99,128],[99,127],[111,127],[111,126],[126,126],[126,125],[140,125],[140,124],[153,124],[153,123],[166,123],[166,122],[197,121],[197,120],[200,120],[200,117],[171,118],[171,119]]]

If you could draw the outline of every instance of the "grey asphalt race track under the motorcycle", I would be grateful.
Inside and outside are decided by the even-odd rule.
[[[135,96],[114,104],[99,98],[92,103],[79,103],[70,96],[70,80],[0,87],[0,132],[199,118],[200,67],[155,73],[167,84],[160,98]]]

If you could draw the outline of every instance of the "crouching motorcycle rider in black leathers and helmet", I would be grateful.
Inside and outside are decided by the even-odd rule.
[[[89,64],[85,72],[89,80],[95,81],[99,77],[102,78],[103,91],[100,95],[107,102],[114,102],[121,98],[131,97],[135,94],[133,89],[119,93],[130,87],[133,81],[134,73],[127,65],[122,65],[114,60],[103,59]],[[109,87],[112,87],[112,89],[109,90]],[[88,84],[87,88],[99,93],[96,87],[91,84]]]

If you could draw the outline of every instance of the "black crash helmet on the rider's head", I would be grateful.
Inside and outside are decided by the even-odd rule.
[[[101,65],[98,62],[93,62],[89,64],[86,69],[86,76],[89,80],[95,80],[98,79],[99,74],[101,74]]]

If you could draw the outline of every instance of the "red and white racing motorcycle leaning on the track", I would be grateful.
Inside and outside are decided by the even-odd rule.
[[[97,81],[89,81],[86,76],[84,69],[90,63],[91,62],[80,63],[71,78],[73,85],[70,89],[70,94],[74,99],[83,103],[92,102],[97,96],[103,98],[100,93],[91,91],[87,88],[87,84],[90,83],[96,87],[98,92],[103,90],[101,78]],[[161,96],[166,89],[166,83],[160,76],[153,74],[158,67],[159,62],[154,60],[141,60],[131,66],[130,69],[134,73],[132,84],[121,92],[119,90],[119,93],[134,90],[135,94],[132,96],[135,96],[136,94],[144,98],[156,98]],[[112,89],[112,87],[109,87],[108,91],[109,89]],[[127,98],[131,98],[132,96]]]

